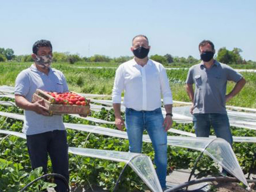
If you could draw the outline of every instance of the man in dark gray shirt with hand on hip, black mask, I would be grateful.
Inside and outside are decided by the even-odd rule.
[[[209,137],[212,125],[217,137],[225,139],[232,146],[226,102],[232,99],[245,85],[243,76],[233,68],[213,59],[214,45],[209,40],[199,44],[202,62],[188,71],[186,90],[193,102],[190,113],[197,137]],[[227,81],[236,82],[226,95]],[[195,93],[193,84],[195,83]]]

